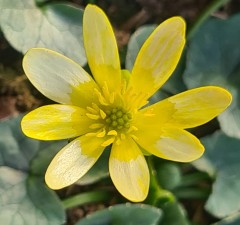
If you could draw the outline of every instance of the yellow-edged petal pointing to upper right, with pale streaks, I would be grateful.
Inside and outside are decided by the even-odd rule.
[[[172,17],[161,23],[140,49],[129,87],[150,97],[176,68],[184,44],[185,21],[181,17]]]

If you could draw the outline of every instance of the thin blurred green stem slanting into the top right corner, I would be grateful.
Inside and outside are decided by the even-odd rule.
[[[226,4],[229,0],[214,0],[207,8],[200,14],[194,25],[189,29],[187,39],[191,39],[197,32],[199,27],[207,20],[207,18],[215,12],[219,7]]]

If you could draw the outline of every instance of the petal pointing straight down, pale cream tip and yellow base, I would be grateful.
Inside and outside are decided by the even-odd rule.
[[[118,191],[133,202],[143,201],[149,188],[149,171],[146,160],[132,138],[119,145],[114,143],[109,172]]]

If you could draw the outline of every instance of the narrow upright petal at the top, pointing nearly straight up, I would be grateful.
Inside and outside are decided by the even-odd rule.
[[[111,91],[120,87],[121,70],[116,39],[105,13],[88,5],[83,15],[83,37],[92,74],[99,84],[106,82]]]

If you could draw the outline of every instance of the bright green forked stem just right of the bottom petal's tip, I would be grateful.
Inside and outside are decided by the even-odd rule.
[[[148,157],[147,162],[150,171],[150,190],[146,200],[147,203],[158,207],[166,202],[174,202],[175,196],[170,191],[162,189],[159,185],[151,156]]]

